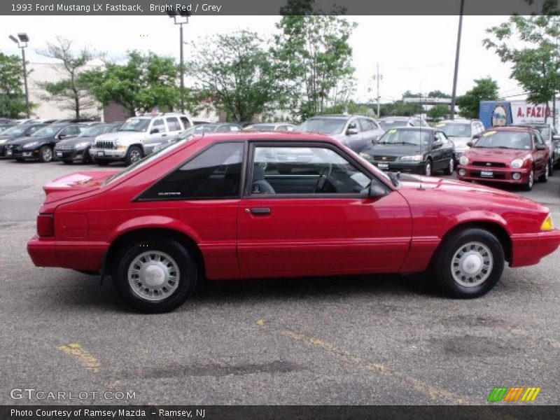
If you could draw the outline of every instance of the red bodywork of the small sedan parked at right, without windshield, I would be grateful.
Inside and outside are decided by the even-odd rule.
[[[527,127],[496,127],[491,131],[527,132],[531,134],[535,130]],[[457,167],[458,171],[464,169],[466,172],[465,175],[457,172],[457,179],[460,181],[488,181],[523,185],[528,182],[531,167],[534,167],[533,175],[535,179],[545,173],[550,160],[550,150],[546,148],[539,151],[535,148],[533,142],[533,150],[531,151],[472,147],[463,156],[468,158],[469,162],[468,165],[458,165]],[[510,164],[515,159],[524,160],[525,165],[518,169],[512,168]],[[487,165],[489,163],[491,165]],[[492,178],[481,176],[479,173],[485,169],[489,169],[495,175]],[[521,175],[519,179],[513,179],[512,177],[512,174],[516,172]]]

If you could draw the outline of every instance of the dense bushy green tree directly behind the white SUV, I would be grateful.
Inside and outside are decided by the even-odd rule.
[[[107,62],[104,69],[83,73],[83,80],[97,101],[103,105],[120,104],[131,115],[155,107],[172,111],[180,99],[177,77],[174,59],[136,50],[127,52],[125,64]]]

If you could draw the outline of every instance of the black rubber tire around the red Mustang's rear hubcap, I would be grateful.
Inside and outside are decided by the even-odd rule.
[[[179,287],[169,297],[151,302],[139,297],[128,283],[128,268],[137,255],[146,251],[162,251],[170,255],[179,265]],[[121,248],[113,265],[113,282],[118,293],[134,309],[148,314],[172,311],[181,306],[195,290],[198,272],[195,260],[187,249],[173,239],[146,239],[131,241]]]

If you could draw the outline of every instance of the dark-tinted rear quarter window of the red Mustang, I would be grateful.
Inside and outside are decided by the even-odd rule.
[[[237,197],[242,162],[242,143],[215,144],[148,188],[140,200]]]

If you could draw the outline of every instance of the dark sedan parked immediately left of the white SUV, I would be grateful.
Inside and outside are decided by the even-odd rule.
[[[121,125],[123,125],[122,122],[91,125],[78,134],[78,137],[59,141],[55,146],[55,159],[68,164],[75,160],[81,160],[84,163],[93,162],[90,148],[95,138],[105,133],[117,131]]]

